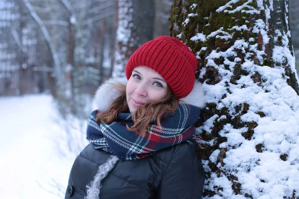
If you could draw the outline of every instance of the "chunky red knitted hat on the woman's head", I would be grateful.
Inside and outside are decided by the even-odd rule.
[[[179,39],[159,36],[138,48],[126,67],[128,80],[137,66],[147,66],[160,74],[177,99],[193,89],[197,58]]]

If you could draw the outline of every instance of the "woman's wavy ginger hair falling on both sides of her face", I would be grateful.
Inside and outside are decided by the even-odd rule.
[[[97,122],[110,124],[117,119],[117,113],[130,112],[127,102],[126,86],[123,84],[112,85],[113,89],[117,89],[121,95],[112,102],[107,110],[97,114]],[[178,104],[179,100],[175,98],[174,94],[167,86],[167,92],[163,100],[150,100],[133,112],[132,119],[134,125],[127,125],[127,129],[145,136],[149,130],[149,124],[154,122],[161,126],[161,118],[163,114],[165,112],[173,113]]]

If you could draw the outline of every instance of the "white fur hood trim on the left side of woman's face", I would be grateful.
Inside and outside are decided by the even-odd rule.
[[[112,84],[127,85],[127,78],[109,79],[105,81],[97,90],[95,100],[99,111],[107,110],[111,103],[117,99],[121,93],[113,88]]]

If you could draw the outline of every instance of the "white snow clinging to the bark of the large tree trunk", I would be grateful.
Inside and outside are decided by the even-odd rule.
[[[240,3],[235,6],[235,3]],[[248,5],[252,0],[229,0],[224,6],[219,7],[217,12],[244,12],[260,13],[265,10],[265,19],[257,19],[253,27],[246,25],[234,26],[232,29],[243,31],[249,30],[259,34],[262,40],[262,49],[258,49],[258,38],[235,40],[234,44],[226,51],[212,50],[205,57],[206,67],[214,67],[221,78],[215,85],[203,84],[208,103],[216,103],[216,108],[228,108],[228,113],[232,119],[237,115],[241,116],[243,122],[255,122],[257,127],[253,128],[254,134],[251,140],[245,139],[242,133],[247,132],[248,125],[242,128],[234,128],[231,124],[225,124],[219,135],[226,137],[227,141],[219,145],[213,151],[208,160],[203,161],[205,172],[210,172],[210,178],[205,181],[205,190],[215,191],[213,197],[204,199],[245,199],[244,194],[251,195],[254,199],[282,199],[285,196],[292,198],[293,191],[296,191],[295,198],[299,198],[299,96],[294,89],[288,85],[284,63],[288,63],[290,73],[298,75],[295,69],[295,58],[289,50],[290,31],[276,30],[272,35],[276,46],[273,48],[272,66],[263,66],[265,50],[270,42],[269,24],[270,13],[274,10],[273,0],[269,0],[269,5],[264,5],[263,0],[257,0],[258,9]],[[265,7],[264,7],[265,6]],[[286,15],[283,20],[288,22]],[[231,35],[221,27],[220,29],[205,35],[205,32],[197,33],[191,41],[205,42],[210,37],[231,38]],[[279,38],[280,37],[280,38]],[[278,40],[281,39],[279,45]],[[251,44],[255,42],[255,44]],[[205,47],[203,46],[201,50]],[[196,52],[198,56],[201,52]],[[206,50],[206,49],[204,49]],[[244,59],[237,57],[237,51],[241,50],[245,54]],[[252,55],[259,60],[259,63],[252,60]],[[216,59],[223,59],[223,64],[216,64]],[[230,61],[232,60],[233,61]],[[241,70],[247,71],[247,76],[242,76],[236,80],[237,84],[231,83],[235,65],[241,64]],[[225,66],[226,65],[226,66]],[[199,77],[203,78],[206,68],[200,70]],[[255,83],[251,76],[259,73],[261,82]],[[225,96],[225,97],[224,97]],[[246,113],[241,113],[244,103],[249,104]],[[236,106],[241,106],[241,110],[236,111]],[[261,116],[258,112],[263,112]],[[214,114],[208,118],[204,124],[196,128],[200,135],[202,132],[210,134],[215,122],[227,119],[225,115]],[[217,138],[210,141],[202,140],[203,146],[215,144]],[[257,146],[261,146],[261,151],[257,151]],[[217,164],[217,169],[224,173],[212,172],[210,163],[217,163],[217,158],[221,149],[226,148],[224,165]],[[283,157],[285,156],[285,158]],[[282,159],[285,159],[282,160]],[[228,179],[234,175],[241,184],[242,195],[235,195],[232,189],[232,182]],[[218,189],[221,188],[221,189]]]

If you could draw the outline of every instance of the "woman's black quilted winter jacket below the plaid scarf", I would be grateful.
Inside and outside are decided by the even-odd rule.
[[[91,144],[72,167],[65,199],[84,199],[86,185],[111,154]],[[100,199],[201,199],[204,173],[195,142],[139,160],[120,160],[101,182]]]

